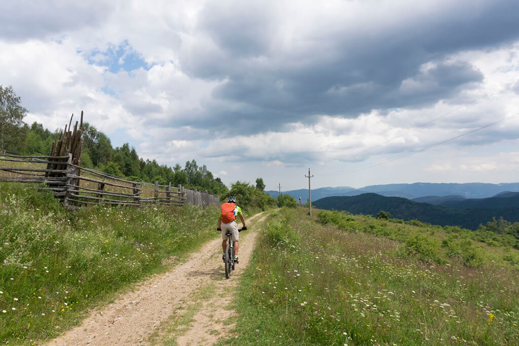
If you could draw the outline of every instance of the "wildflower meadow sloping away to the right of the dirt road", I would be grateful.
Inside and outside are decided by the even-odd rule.
[[[275,215],[257,244],[237,297],[238,338],[222,344],[519,344],[513,266],[406,254],[400,241],[302,209]]]

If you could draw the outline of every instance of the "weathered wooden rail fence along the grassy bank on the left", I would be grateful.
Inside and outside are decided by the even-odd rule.
[[[4,152],[0,154],[0,181],[41,184],[38,189],[52,191],[71,209],[99,203],[133,206],[193,204],[201,207],[220,204],[218,196],[208,192],[188,190],[181,185],[172,187],[171,183],[135,182],[80,167],[73,163],[72,154],[23,156]]]

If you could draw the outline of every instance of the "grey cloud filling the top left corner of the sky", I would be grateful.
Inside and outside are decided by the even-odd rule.
[[[2,1],[0,2],[0,38],[24,41],[60,34],[107,18],[112,6],[92,2]]]

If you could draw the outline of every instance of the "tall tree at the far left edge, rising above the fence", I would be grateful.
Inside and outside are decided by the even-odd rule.
[[[26,113],[12,86],[4,88],[0,85],[0,148],[17,151],[23,147],[23,118]]]

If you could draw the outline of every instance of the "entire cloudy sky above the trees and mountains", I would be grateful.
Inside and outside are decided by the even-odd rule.
[[[517,182],[519,2],[0,0],[0,85],[268,190]],[[488,126],[493,124],[491,126]]]

